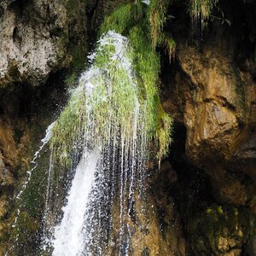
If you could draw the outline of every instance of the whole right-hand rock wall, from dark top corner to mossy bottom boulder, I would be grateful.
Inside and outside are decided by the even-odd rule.
[[[230,15],[224,2],[220,6],[231,26],[215,20],[190,39],[183,26],[173,28],[178,48],[176,62],[165,69],[163,104],[175,113],[177,127],[183,127],[183,160],[196,166],[194,175],[204,172],[210,181],[201,191],[207,199],[188,198],[190,210],[181,206],[191,252],[255,255],[255,3],[234,3]],[[177,173],[178,182],[183,175]],[[193,197],[196,190],[186,193]]]

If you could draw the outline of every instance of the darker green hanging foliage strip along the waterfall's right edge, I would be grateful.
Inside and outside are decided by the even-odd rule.
[[[173,38],[164,34],[166,12],[171,0],[152,0],[147,10],[142,10],[142,4],[128,4],[110,15],[103,23],[101,32],[114,30],[123,33],[130,39],[133,51],[133,65],[140,81],[141,88],[148,98],[148,123],[155,127],[155,143],[159,147],[158,158],[167,153],[171,142],[172,119],[164,112],[160,105],[158,79],[160,73],[160,55],[156,52],[157,44],[165,46],[170,60],[176,48]],[[131,6],[133,7],[131,9]],[[123,12],[129,9],[125,20]],[[137,11],[139,9],[140,11]],[[144,7],[145,9],[145,7]],[[140,15],[134,15],[134,14]],[[120,18],[117,18],[120,17]],[[140,20],[138,20],[140,18]],[[117,20],[122,20],[118,22]],[[113,22],[113,20],[115,20]],[[135,20],[135,22],[133,22]],[[121,24],[122,26],[117,26]]]

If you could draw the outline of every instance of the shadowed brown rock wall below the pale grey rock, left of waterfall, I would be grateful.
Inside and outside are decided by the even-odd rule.
[[[19,202],[15,205],[15,195],[27,177],[26,172],[30,170],[32,156],[38,150],[45,128],[53,119],[56,104],[65,101],[65,90],[62,86],[60,81],[50,79],[44,89],[34,90],[26,84],[9,86],[9,90],[0,89],[0,255],[6,253],[10,237],[12,241],[15,239],[15,232],[11,227],[17,214],[16,207],[19,205]],[[35,177],[40,173],[42,172],[38,170]],[[40,184],[42,177],[37,179]],[[32,184],[29,193],[39,193],[39,184]],[[32,218],[35,214],[33,207],[38,207],[32,201],[28,202],[32,206],[30,218],[23,216],[21,219],[23,224],[26,219],[30,229],[23,233],[22,237],[26,241],[31,236],[30,232],[38,229]],[[23,228],[25,229],[26,227]]]

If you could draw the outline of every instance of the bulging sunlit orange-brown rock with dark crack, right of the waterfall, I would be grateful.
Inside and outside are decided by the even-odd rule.
[[[195,84],[184,110],[187,154],[197,163],[228,158],[236,147],[246,111],[242,87],[238,93],[237,71],[228,57],[211,48],[201,54],[183,47],[178,56],[183,71]]]

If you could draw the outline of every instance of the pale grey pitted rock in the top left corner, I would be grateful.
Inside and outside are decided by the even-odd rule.
[[[83,1],[6,0],[0,3],[0,86],[44,84],[67,67],[86,36]]]

